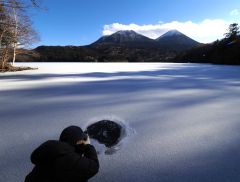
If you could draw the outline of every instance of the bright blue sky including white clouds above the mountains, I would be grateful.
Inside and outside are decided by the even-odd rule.
[[[210,42],[221,38],[229,23],[240,20],[239,0],[42,0],[42,4],[48,11],[31,13],[41,37],[37,45],[86,45],[122,29],[156,38],[172,28]]]

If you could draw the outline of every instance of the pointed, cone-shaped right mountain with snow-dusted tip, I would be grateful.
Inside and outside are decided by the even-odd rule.
[[[183,51],[201,45],[178,30],[170,30],[156,39],[158,46],[166,50]]]

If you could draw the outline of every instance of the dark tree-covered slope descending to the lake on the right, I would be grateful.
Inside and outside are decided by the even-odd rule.
[[[175,62],[240,65],[240,27],[229,25],[224,38],[180,53]]]

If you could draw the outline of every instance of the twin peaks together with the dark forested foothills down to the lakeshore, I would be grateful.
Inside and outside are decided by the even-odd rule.
[[[156,40],[132,30],[118,31],[103,36],[87,46],[40,46],[31,56],[19,54],[18,61],[40,62],[165,62],[180,51],[199,45],[177,30]]]

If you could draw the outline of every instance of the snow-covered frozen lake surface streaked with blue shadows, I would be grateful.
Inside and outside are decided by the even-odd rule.
[[[99,154],[92,182],[240,181],[240,67],[26,65],[39,69],[0,73],[1,182],[23,181],[33,149],[63,128],[105,118],[133,132]]]

